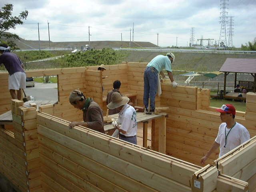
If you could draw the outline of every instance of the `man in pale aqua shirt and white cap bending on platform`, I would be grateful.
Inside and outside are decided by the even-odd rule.
[[[158,86],[158,73],[162,75],[163,78],[170,78],[172,82],[172,86],[176,88],[178,83],[176,83],[173,79],[171,63],[175,60],[175,56],[173,53],[167,53],[166,56],[158,55],[153,58],[144,71],[144,95],[143,95],[143,103],[145,108],[148,108],[150,112],[154,112],[155,109],[155,97]],[[168,73],[168,77],[164,75],[162,70],[166,70]],[[148,104],[148,98],[150,98],[150,104]]]

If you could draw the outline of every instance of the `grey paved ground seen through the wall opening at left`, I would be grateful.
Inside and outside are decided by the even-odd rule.
[[[33,96],[35,100],[58,101],[57,83],[38,83],[34,87],[24,90],[27,95]]]

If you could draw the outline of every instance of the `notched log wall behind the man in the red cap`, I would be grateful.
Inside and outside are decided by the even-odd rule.
[[[208,90],[189,86],[172,88],[170,84],[162,84],[161,106],[169,107],[165,111],[169,113],[166,119],[167,154],[200,165],[200,159],[210,149],[221,123],[220,114],[209,106],[208,98]],[[236,121],[248,129],[251,137],[256,135],[255,108],[251,107],[255,101],[256,94],[248,93],[246,108],[249,112],[236,114]],[[223,100],[223,104],[226,102]],[[210,110],[200,110],[203,108]],[[242,117],[244,114],[245,117]],[[218,151],[209,157],[206,164],[211,164],[217,158]]]

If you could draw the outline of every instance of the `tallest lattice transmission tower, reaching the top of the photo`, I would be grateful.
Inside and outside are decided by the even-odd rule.
[[[220,46],[227,46],[227,39],[226,39],[226,22],[227,22],[227,14],[228,14],[228,12],[226,12],[226,9],[228,9],[227,7],[226,7],[226,5],[228,5],[227,3],[226,3],[226,1],[228,1],[228,0],[220,0],[220,2],[222,2],[223,1],[223,3],[222,4],[220,4],[220,5],[222,5],[222,8],[220,8],[220,9],[222,9],[222,12],[220,12],[220,23],[221,23],[221,28],[220,28],[220,41],[219,41],[219,45]]]

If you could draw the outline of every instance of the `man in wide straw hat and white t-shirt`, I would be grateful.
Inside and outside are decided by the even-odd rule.
[[[113,121],[114,128],[119,130],[119,138],[132,144],[137,144],[137,120],[135,109],[128,105],[128,97],[122,97],[120,93],[114,92],[112,101],[107,105],[109,109],[120,110],[118,121]]]

